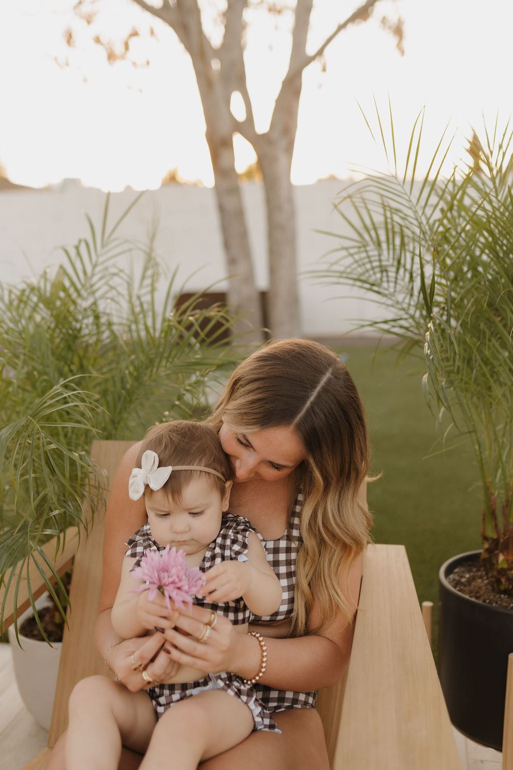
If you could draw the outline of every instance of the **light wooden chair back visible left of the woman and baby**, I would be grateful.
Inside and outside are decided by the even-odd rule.
[[[109,482],[119,461],[131,441],[95,441],[92,457],[106,470]],[[105,495],[105,499],[107,499]],[[102,542],[105,511],[98,511],[95,525],[87,541],[83,542],[75,557],[73,580],[68,613],[69,628],[62,639],[61,662],[58,670],[52,724],[48,746],[55,741],[68,725],[68,700],[75,684],[92,674],[108,675],[105,663],[98,655],[94,642],[95,619],[98,614],[98,598],[102,584]]]

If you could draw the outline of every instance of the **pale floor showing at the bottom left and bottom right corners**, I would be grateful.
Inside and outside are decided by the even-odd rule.
[[[28,713],[18,693],[11,650],[0,644],[0,770],[20,770],[45,748],[48,732]],[[501,770],[501,754],[454,728],[462,770]],[[434,768],[435,770],[435,768]]]

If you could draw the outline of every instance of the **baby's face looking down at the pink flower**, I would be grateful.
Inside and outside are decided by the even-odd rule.
[[[206,474],[205,474],[206,475]],[[175,547],[187,556],[204,552],[221,528],[222,512],[228,510],[232,483],[219,494],[207,478],[192,481],[177,503],[158,490],[146,497],[146,512],[152,537],[159,545]]]

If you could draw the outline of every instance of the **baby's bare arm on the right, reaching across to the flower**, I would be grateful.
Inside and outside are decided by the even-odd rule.
[[[208,601],[242,597],[255,615],[270,615],[281,604],[281,585],[265,557],[258,535],[248,535],[249,561],[222,561],[205,572],[202,595]]]

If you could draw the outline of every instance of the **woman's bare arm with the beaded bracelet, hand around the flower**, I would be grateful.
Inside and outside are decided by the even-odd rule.
[[[341,575],[341,591],[356,610],[356,601],[361,578],[361,557],[358,558],[349,575]],[[314,607],[309,619],[309,628],[315,628],[319,611]],[[236,634],[226,618],[218,623],[208,637],[207,644],[198,644],[197,639],[208,621],[208,611],[193,606],[191,614],[180,614],[175,620],[178,628],[191,636],[185,637],[169,629],[165,638],[175,645],[170,652],[173,660],[191,665],[202,671],[232,671],[250,679],[259,671],[261,650],[258,641],[248,635]],[[267,667],[260,681],[263,685],[280,690],[311,691],[328,687],[338,681],[348,665],[353,638],[353,623],[345,621],[345,614],[339,612],[322,634],[311,634],[300,638],[265,638],[268,647]],[[237,638],[238,637],[238,638]]]

